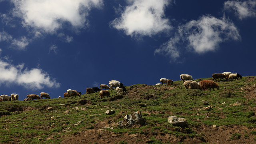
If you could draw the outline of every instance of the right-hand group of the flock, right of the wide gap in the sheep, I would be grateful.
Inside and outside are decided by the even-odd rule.
[[[193,80],[192,76],[188,75],[188,74],[181,74],[180,75],[180,79],[183,81],[183,85],[185,87],[185,89],[199,89],[199,90],[206,90],[207,88],[217,88],[220,89],[220,87],[218,86],[217,79],[222,79],[224,80],[224,78],[226,80],[231,80],[233,81],[233,79],[238,79],[238,78],[242,78],[242,76],[240,74],[232,74],[231,72],[223,72],[223,73],[215,73],[212,74],[212,80],[202,80],[200,82],[196,82]],[[214,79],[216,80],[216,82],[214,82]],[[164,86],[164,84],[169,85],[170,83],[173,83],[172,80],[168,80],[167,78],[161,78],[160,82],[162,83],[162,86]],[[156,85],[161,85],[160,83],[156,84]]]

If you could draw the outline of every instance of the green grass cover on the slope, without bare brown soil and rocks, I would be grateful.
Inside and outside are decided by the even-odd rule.
[[[255,78],[251,76],[251,78]],[[212,79],[212,78],[204,78]],[[256,78],[248,82],[249,77],[243,77],[233,82],[220,81],[217,82],[220,90],[200,91],[185,90],[182,81],[175,81],[174,85],[162,90],[161,86],[146,86],[145,84],[135,84],[127,86],[130,96],[124,94],[124,98],[108,101],[108,98],[99,98],[98,93],[84,94],[81,97],[68,100],[67,98],[34,100],[34,101],[7,101],[0,102],[0,143],[10,143],[20,140],[20,143],[51,143],[58,144],[63,139],[61,135],[76,134],[81,130],[96,129],[97,123],[103,120],[111,122],[119,122],[126,114],[132,114],[136,111],[142,112],[145,119],[145,126],[135,128],[106,128],[109,132],[116,134],[142,134],[155,135],[160,132],[163,134],[171,134],[177,137],[194,138],[202,136],[197,134],[193,128],[202,125],[212,126],[256,126],[256,116],[254,109],[256,107],[255,100],[247,100],[244,98],[244,91],[240,88],[252,86],[256,84]],[[203,79],[198,79],[200,81]],[[136,88],[144,88],[136,91]],[[148,89],[147,89],[148,88]],[[133,91],[133,92],[132,92]],[[138,92],[138,93],[137,93]],[[110,96],[116,96],[116,91],[110,91]],[[150,96],[151,99],[145,99]],[[80,105],[80,100],[86,100],[87,104]],[[203,100],[212,106],[210,111],[202,110],[206,107]],[[222,104],[222,103],[226,104]],[[242,105],[230,106],[235,102]],[[135,106],[134,104],[143,103],[146,107]],[[108,108],[106,108],[106,106]],[[47,110],[53,107],[53,110]],[[78,107],[79,109],[74,109]],[[85,108],[86,107],[86,108]],[[81,110],[85,108],[85,110]],[[222,108],[222,110],[218,110]],[[112,115],[106,115],[106,110],[115,110]],[[65,113],[69,110],[68,113]],[[18,112],[14,112],[18,111]],[[178,116],[188,121],[188,127],[180,128],[167,123],[169,116]],[[82,121],[78,124],[79,121]],[[76,125],[78,124],[78,125]],[[68,132],[67,132],[68,131]],[[256,135],[255,131],[248,132],[244,135]],[[46,138],[52,137],[51,140]],[[243,137],[243,136],[242,136]],[[38,138],[45,139],[40,141]],[[235,133],[231,139],[239,139],[241,135]],[[154,143],[162,143],[156,138],[151,138]],[[143,140],[141,140],[143,141]],[[125,144],[126,141],[118,143]]]

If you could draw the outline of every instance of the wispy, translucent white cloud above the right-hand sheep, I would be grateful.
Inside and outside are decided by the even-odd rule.
[[[228,40],[240,40],[236,26],[225,17],[218,19],[207,15],[180,26],[179,35],[162,44],[155,54],[166,54],[175,61],[182,47],[203,54],[216,50],[221,42]]]

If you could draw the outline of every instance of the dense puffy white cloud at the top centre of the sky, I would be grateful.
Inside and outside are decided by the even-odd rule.
[[[110,25],[118,30],[124,30],[130,36],[152,36],[158,32],[170,30],[170,21],[165,18],[164,10],[170,0],[128,0],[120,18]]]

